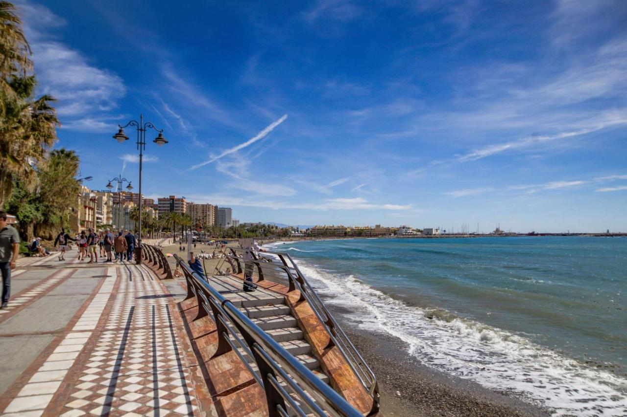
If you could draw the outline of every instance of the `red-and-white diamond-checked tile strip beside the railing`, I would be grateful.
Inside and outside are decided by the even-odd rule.
[[[117,272],[105,327],[60,414],[199,415],[166,294],[144,269]]]

